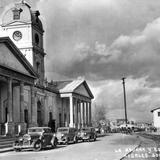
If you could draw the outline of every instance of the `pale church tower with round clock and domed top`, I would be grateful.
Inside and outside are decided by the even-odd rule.
[[[44,81],[43,25],[39,11],[21,0],[7,10],[2,17],[2,30],[15,43],[39,75],[39,83]]]

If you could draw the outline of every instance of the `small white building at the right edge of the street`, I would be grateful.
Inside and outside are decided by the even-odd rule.
[[[153,126],[160,128],[160,107],[151,110],[153,113]]]

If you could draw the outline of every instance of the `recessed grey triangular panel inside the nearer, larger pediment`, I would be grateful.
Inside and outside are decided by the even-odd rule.
[[[31,75],[26,67],[24,67],[23,63],[5,43],[0,43],[0,57],[0,65],[26,75]]]

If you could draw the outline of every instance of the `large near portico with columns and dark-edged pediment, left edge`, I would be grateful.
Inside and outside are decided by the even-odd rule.
[[[31,91],[36,73],[9,38],[0,38],[0,57],[0,135],[13,135],[33,123],[24,91]]]

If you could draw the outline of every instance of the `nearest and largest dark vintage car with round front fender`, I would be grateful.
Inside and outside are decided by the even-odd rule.
[[[13,144],[15,151],[22,149],[34,149],[39,151],[45,147],[56,147],[57,138],[49,127],[32,127],[28,133],[19,137]]]

